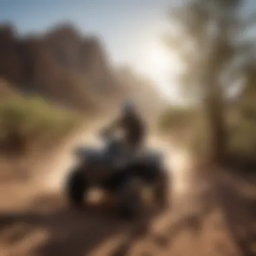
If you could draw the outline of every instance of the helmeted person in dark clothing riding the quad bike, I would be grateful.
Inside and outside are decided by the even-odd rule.
[[[139,116],[139,113],[137,113],[137,109],[133,102],[125,102],[121,117],[117,118],[112,124],[110,124],[107,131],[113,132],[117,129],[124,131],[123,142],[128,149],[133,152],[141,149],[146,136],[146,127]]]

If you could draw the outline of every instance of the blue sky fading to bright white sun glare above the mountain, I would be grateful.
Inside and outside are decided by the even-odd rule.
[[[18,32],[42,32],[72,22],[83,34],[100,36],[116,65],[127,63],[173,95],[170,68],[179,71],[164,49],[166,11],[184,0],[0,0],[0,24],[11,22]],[[247,9],[256,7],[248,0]],[[177,69],[177,70],[175,70]]]

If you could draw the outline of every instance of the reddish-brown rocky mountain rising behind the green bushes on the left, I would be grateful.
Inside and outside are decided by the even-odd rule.
[[[138,79],[119,79],[102,42],[71,24],[24,37],[13,26],[0,26],[0,77],[26,94],[89,111],[113,106],[131,90],[141,98],[148,90]]]

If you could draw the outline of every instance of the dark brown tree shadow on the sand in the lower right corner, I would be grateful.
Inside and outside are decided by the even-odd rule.
[[[256,183],[242,174],[218,175],[216,191],[232,240],[243,256],[256,255]]]

